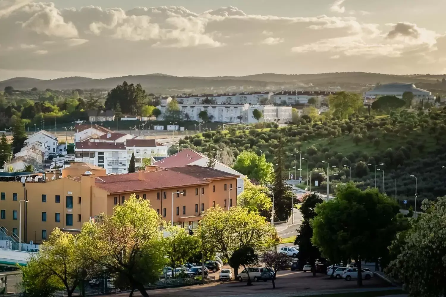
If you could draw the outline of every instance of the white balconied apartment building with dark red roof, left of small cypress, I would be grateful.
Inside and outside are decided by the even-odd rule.
[[[127,148],[122,142],[76,142],[74,161],[105,168],[107,174],[128,172]]]

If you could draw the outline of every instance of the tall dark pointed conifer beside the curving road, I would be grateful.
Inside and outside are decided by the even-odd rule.
[[[283,141],[279,143],[273,164],[277,164],[274,168],[275,179],[272,188],[274,193],[274,218],[283,221],[287,220],[291,213],[293,198],[292,187],[285,182],[285,151],[283,149]]]

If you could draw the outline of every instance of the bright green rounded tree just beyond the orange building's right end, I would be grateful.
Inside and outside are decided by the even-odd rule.
[[[273,164],[266,162],[265,155],[259,156],[253,151],[242,151],[235,159],[232,168],[260,183],[269,183],[273,180]]]

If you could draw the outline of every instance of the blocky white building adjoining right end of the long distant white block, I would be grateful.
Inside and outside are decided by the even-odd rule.
[[[249,124],[257,122],[252,114],[254,110],[260,110],[263,114],[258,122],[276,122],[285,124],[292,120],[293,108],[291,106],[249,105],[248,108],[243,111],[243,122]]]

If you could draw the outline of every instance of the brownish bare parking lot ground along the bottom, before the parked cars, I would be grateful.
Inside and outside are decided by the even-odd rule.
[[[218,275],[211,273],[210,275]],[[390,287],[378,277],[371,280],[363,280],[364,288]],[[297,271],[280,271],[277,273],[276,289],[272,289],[271,281],[254,282],[252,286],[247,286],[246,282],[231,281],[219,282],[208,285],[195,285],[181,288],[157,289],[148,291],[151,297],[212,297],[212,296],[241,296],[245,294],[271,294],[277,293],[297,293],[303,291],[323,291],[336,289],[355,289],[356,281],[345,281],[343,279],[330,279],[326,275],[318,273],[313,277],[311,273]],[[128,293],[118,293],[111,296],[128,296]],[[135,293],[133,296],[140,296]]]

